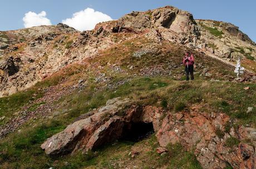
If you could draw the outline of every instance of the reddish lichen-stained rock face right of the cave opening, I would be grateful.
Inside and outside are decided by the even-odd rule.
[[[196,147],[194,154],[203,168],[225,168],[227,163],[233,168],[255,167],[252,146],[246,143],[227,144],[228,140],[242,142],[248,139],[254,143],[250,133],[254,133],[255,129],[240,126],[237,131],[231,128],[225,133],[224,127],[230,122],[227,115],[201,113],[198,107],[192,107],[191,110],[190,113],[169,114],[164,118],[159,132],[156,133],[160,146],[179,142],[188,151]]]

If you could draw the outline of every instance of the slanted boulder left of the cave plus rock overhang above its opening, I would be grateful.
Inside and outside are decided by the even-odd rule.
[[[77,150],[95,150],[113,142],[131,130],[132,123],[152,123],[154,130],[160,126],[161,108],[131,106],[129,99],[114,98],[106,106],[82,115],[65,130],[48,138],[41,148],[47,155],[60,155]],[[128,107],[128,108],[127,108]]]

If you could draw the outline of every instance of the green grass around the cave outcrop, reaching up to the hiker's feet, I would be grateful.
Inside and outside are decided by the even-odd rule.
[[[115,77],[111,83],[118,82],[125,77]],[[51,81],[52,79],[48,79]],[[56,102],[57,110],[61,113],[53,119],[29,121],[21,128],[21,132],[9,134],[7,138],[0,141],[0,163],[4,168],[49,168],[55,164],[56,168],[80,168],[90,165],[98,165],[99,167],[111,168],[111,161],[129,160],[127,154],[119,155],[134,146],[130,143],[120,142],[114,146],[91,153],[88,156],[82,156],[77,153],[75,156],[63,156],[61,158],[52,158],[45,155],[40,149],[41,143],[46,138],[60,132],[68,124],[72,123],[78,116],[87,113],[93,108],[105,105],[106,101],[115,97],[129,97],[138,105],[152,105],[167,108],[169,111],[182,111],[193,104],[204,103],[206,112],[225,112],[232,118],[238,120],[238,124],[256,124],[255,109],[253,112],[246,113],[248,107],[256,102],[256,84],[243,84],[233,82],[209,82],[202,79],[196,79],[193,83],[175,81],[168,77],[136,77],[130,79],[125,84],[118,86],[112,90],[97,90],[98,85],[88,80],[88,87],[82,91],[75,91],[61,100]],[[37,84],[41,87],[47,87],[46,82]],[[56,82],[58,83],[58,82]],[[50,83],[52,84],[52,83]],[[249,86],[250,90],[243,90]],[[28,92],[28,91],[27,91]],[[35,91],[36,92],[36,91]],[[4,99],[5,110],[15,112],[15,105],[25,105],[35,92],[17,93],[16,95],[1,98]],[[37,95],[40,95],[38,93]],[[15,96],[15,97],[14,97]],[[41,103],[31,106],[31,110],[35,110]],[[2,108],[2,107],[1,107]],[[5,112],[5,111],[4,111]],[[225,132],[228,132],[234,124],[230,123],[225,126]],[[32,127],[34,126],[34,127]],[[219,137],[223,137],[223,132],[217,132]],[[156,147],[157,141],[152,142],[152,147]],[[237,145],[239,142],[235,138],[229,138],[226,142],[227,146]],[[141,142],[145,145],[145,142]],[[136,145],[136,144],[135,144]],[[118,147],[118,148],[117,148]],[[117,148],[117,149],[115,149]],[[193,153],[186,152],[180,146],[173,146],[170,153],[166,157],[157,155],[153,149],[147,152],[145,156],[138,157],[140,161],[146,161],[146,167],[159,164],[159,166],[169,165],[170,168],[199,168]],[[114,150],[118,150],[113,152]],[[179,151],[178,151],[179,150]],[[173,154],[177,153],[175,157]],[[170,158],[171,157],[171,158]],[[158,159],[154,161],[153,159]],[[154,162],[153,164],[150,161]],[[65,163],[68,165],[65,165]],[[137,161],[139,163],[139,161]],[[156,167],[159,167],[156,166]]]

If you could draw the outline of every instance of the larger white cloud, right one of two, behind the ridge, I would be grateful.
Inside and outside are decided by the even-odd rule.
[[[67,18],[62,23],[79,31],[88,31],[93,29],[97,23],[111,20],[112,18],[107,14],[87,8],[83,11],[73,13],[72,18]]]

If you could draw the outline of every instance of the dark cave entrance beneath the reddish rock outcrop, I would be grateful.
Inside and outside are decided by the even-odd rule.
[[[154,133],[153,123],[131,122],[125,125],[121,140],[139,142]]]

